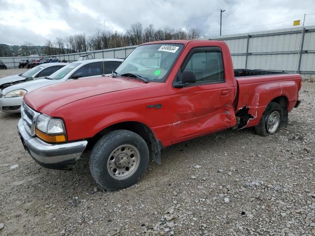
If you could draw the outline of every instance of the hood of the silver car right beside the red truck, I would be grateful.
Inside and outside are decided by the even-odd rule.
[[[64,81],[63,80],[60,81],[60,80],[47,80],[44,78],[38,78],[38,79],[36,78],[35,80],[32,80],[32,81],[27,81],[24,83],[12,85],[12,86],[9,86],[5,89],[2,89],[2,93],[6,94],[6,93],[13,91],[13,90],[16,90],[16,89],[25,89],[28,92],[31,92],[34,89],[39,89],[41,87],[45,87],[48,85],[54,85],[54,84],[57,84],[60,82],[64,82]]]

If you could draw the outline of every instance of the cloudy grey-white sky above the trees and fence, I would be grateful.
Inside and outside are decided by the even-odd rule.
[[[314,0],[0,0],[0,43],[43,45],[96,28],[125,32],[130,24],[197,27],[204,37],[292,27],[293,20],[315,25]]]

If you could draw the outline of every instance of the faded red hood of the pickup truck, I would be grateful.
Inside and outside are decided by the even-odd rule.
[[[34,110],[50,115],[56,109],[77,100],[108,92],[149,86],[151,84],[156,83],[145,84],[132,79],[104,76],[71,80],[27,93],[24,101]]]

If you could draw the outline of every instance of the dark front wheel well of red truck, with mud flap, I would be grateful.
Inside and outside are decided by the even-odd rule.
[[[141,122],[126,121],[106,127],[105,129],[101,130],[93,138],[90,139],[89,142],[90,148],[92,149],[97,140],[99,140],[102,136],[118,129],[129,130],[140,135],[148,144],[152,159],[158,164],[161,164],[160,150],[163,148],[162,143],[155,137],[153,131],[147,125]]]

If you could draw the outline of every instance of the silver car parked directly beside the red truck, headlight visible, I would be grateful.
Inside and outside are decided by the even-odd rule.
[[[6,113],[19,113],[21,111],[24,95],[34,89],[81,77],[89,78],[110,74],[113,70],[116,70],[122,62],[123,59],[91,59],[75,61],[64,66],[50,76],[2,89],[0,90],[0,111]]]

